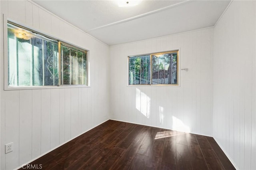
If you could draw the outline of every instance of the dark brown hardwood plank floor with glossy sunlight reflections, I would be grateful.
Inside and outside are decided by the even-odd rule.
[[[211,137],[111,120],[30,164],[44,170],[235,169]]]

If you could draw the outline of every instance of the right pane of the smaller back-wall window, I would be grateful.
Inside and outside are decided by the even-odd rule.
[[[177,84],[177,52],[152,55],[152,84]]]

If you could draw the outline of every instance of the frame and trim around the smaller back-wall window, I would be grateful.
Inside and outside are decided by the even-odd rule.
[[[150,55],[150,69],[152,69],[152,55],[159,55],[159,54],[166,54],[166,53],[174,53],[177,52],[177,84],[152,84],[152,70],[150,70],[150,84],[146,85],[130,85],[129,84],[129,59],[130,57],[136,56],[143,56],[143,55]],[[168,50],[168,51],[161,51],[161,52],[152,52],[152,53],[144,53],[138,55],[128,55],[127,56],[127,87],[180,87],[180,48]]]

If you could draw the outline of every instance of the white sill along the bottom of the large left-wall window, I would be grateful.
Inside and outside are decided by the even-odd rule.
[[[69,89],[69,88],[87,88],[91,86],[86,85],[62,85],[62,86],[17,86],[17,87],[4,87],[5,91],[8,90],[33,90],[33,89]]]

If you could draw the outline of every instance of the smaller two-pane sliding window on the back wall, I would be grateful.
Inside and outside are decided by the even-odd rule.
[[[178,85],[178,50],[128,59],[129,85]]]

